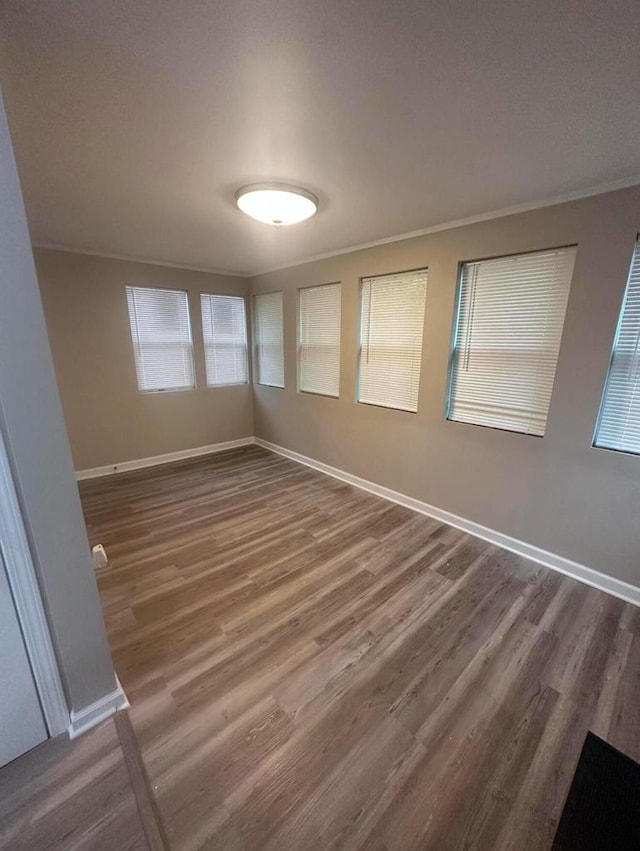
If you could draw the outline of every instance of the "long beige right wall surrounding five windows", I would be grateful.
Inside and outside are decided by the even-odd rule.
[[[343,254],[252,280],[285,294],[284,390],[255,388],[258,437],[640,585],[640,457],[592,448],[640,187]],[[458,264],[577,243],[544,438],[444,419]],[[359,278],[429,267],[417,414],[355,402]],[[296,392],[298,287],[342,282],[339,399]]]

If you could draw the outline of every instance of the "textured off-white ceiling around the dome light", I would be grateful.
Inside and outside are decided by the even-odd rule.
[[[0,0],[34,242],[247,273],[640,182],[638,0]],[[246,218],[281,180],[308,222]]]

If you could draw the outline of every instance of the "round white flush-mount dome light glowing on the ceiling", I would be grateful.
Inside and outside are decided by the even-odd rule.
[[[318,209],[318,199],[306,189],[286,183],[254,183],[236,192],[243,213],[266,225],[295,225]]]

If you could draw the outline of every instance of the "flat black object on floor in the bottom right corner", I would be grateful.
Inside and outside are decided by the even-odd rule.
[[[587,733],[552,851],[638,851],[640,765]]]

